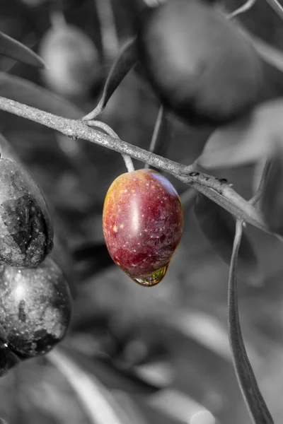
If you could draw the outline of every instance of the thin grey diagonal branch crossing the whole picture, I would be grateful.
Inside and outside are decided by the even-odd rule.
[[[186,174],[186,165],[177,163],[168,158],[163,158],[160,155],[146,151],[138,146],[133,146],[130,143],[117,139],[117,137],[103,134],[102,131],[91,128],[91,126],[87,125],[87,122],[81,119],[59,117],[55,114],[28,105],[23,105],[23,103],[1,96],[0,110],[16,114],[18,117],[23,117],[55,129],[71,139],[90,141],[99,146],[117,151],[122,155],[131,156],[144,163],[147,162],[160,170],[170,173],[185,184],[189,184],[190,187],[197,189],[198,192],[209,197],[209,199],[212,199],[230,213],[233,213],[236,218],[242,219],[251,225],[255,225],[255,227],[275,235],[275,237],[279,237],[277,234],[270,232],[262,219],[261,213],[236,193],[226,180],[202,172],[189,172]]]

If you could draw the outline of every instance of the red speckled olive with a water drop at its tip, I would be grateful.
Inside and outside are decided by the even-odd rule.
[[[103,207],[103,233],[113,261],[150,286],[165,276],[183,231],[183,208],[171,182],[137,170],[112,182]]]

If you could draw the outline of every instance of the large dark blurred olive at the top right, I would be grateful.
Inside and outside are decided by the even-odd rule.
[[[168,0],[139,17],[139,59],[156,94],[187,124],[218,126],[262,97],[263,67],[235,24],[202,1]]]

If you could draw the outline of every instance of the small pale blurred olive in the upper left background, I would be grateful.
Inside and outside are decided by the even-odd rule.
[[[40,44],[49,88],[66,97],[85,96],[100,79],[98,51],[91,39],[64,22],[47,31]]]

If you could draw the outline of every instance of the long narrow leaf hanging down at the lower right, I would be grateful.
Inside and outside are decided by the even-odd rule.
[[[239,249],[241,249],[242,223],[237,220],[236,235],[233,242],[233,253],[229,272],[229,342],[233,356],[233,365],[236,371],[238,383],[243,394],[243,398],[248,406],[250,416],[254,424],[274,424],[270,411],[265,404],[265,400],[260,393],[258,382],[255,379],[253,368],[250,365],[246,353],[245,344],[241,332],[240,319],[238,315],[238,295],[237,295],[237,264]]]

